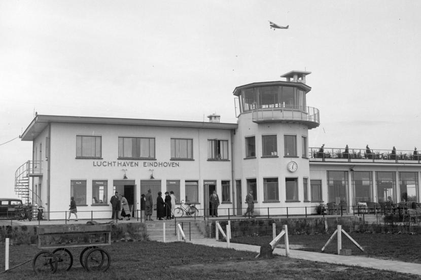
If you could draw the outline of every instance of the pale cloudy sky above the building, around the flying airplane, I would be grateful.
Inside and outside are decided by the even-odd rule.
[[[312,72],[309,147],[421,148],[419,14],[409,0],[0,0],[2,196],[35,112],[235,123],[235,87],[292,70]]]

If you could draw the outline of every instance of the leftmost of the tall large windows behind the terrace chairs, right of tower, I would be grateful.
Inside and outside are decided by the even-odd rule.
[[[348,171],[328,171],[329,201],[336,204],[347,202],[346,186],[348,185]]]

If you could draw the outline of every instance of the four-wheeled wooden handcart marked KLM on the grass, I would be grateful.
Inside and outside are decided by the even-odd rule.
[[[86,238],[87,235],[92,238]],[[82,238],[85,241],[65,240],[69,237],[85,237]],[[51,274],[57,267],[69,270],[73,265],[73,255],[68,249],[74,247],[85,247],[79,260],[86,270],[106,271],[110,267],[110,255],[101,247],[111,245],[111,224],[38,226],[37,238],[37,247],[43,251],[32,261],[32,268],[36,273]],[[52,242],[55,240],[62,242]],[[54,250],[49,251],[51,249]]]

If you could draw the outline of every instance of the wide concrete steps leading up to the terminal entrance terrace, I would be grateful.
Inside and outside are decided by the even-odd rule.
[[[146,234],[151,240],[163,240],[163,223],[165,223],[165,241],[177,241],[177,229],[173,220],[149,221],[146,223]],[[190,238],[204,238],[199,226],[195,222],[180,222],[187,240]],[[180,236],[181,238],[181,236]]]

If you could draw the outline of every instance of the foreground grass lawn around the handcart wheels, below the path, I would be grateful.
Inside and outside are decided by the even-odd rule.
[[[421,279],[402,274],[276,256],[272,260],[255,259],[256,253],[212,248],[184,242],[115,242],[105,247],[111,256],[106,272],[86,272],[79,263],[81,249],[70,249],[74,266],[69,271],[57,269],[47,277],[37,276],[30,263],[7,273],[2,279]],[[10,247],[10,267],[33,258],[36,246]],[[5,246],[0,246],[1,270],[4,270]]]

